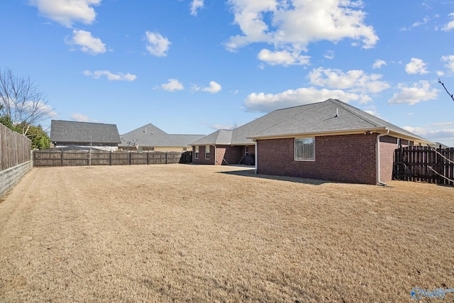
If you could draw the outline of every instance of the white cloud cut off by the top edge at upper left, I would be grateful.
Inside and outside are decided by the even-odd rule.
[[[96,19],[92,6],[101,4],[101,0],[30,0],[30,4],[40,15],[71,27],[74,22],[92,24]]]

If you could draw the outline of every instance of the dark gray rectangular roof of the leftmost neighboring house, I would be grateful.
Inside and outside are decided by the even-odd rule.
[[[61,143],[112,143],[121,142],[115,124],[52,120],[50,141]]]

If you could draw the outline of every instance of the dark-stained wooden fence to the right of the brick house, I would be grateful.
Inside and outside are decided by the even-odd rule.
[[[454,185],[454,148],[397,148],[393,177],[394,180]]]

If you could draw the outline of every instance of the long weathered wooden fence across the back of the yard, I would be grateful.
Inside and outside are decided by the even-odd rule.
[[[151,165],[187,163],[190,152],[108,152],[80,150],[35,150],[33,165],[40,166],[80,166],[80,165]],[[191,157],[192,159],[192,157]]]

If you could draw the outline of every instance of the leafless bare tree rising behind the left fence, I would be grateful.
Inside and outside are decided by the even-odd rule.
[[[50,118],[52,113],[43,92],[30,77],[17,77],[9,69],[0,70],[0,116],[11,119],[24,136],[30,126]]]

